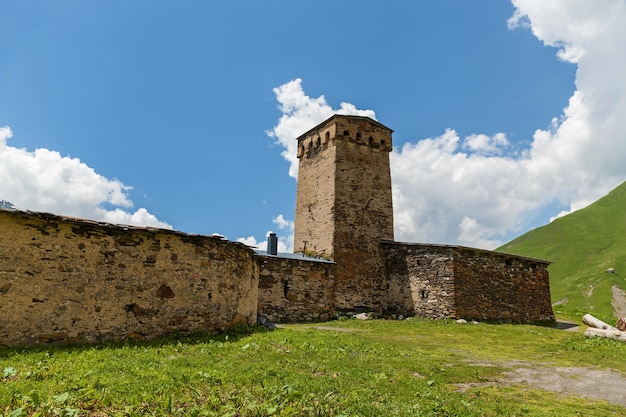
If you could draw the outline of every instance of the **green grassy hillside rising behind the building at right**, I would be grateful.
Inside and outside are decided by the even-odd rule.
[[[611,288],[626,289],[626,183],[497,250],[554,262],[549,271],[557,312],[613,316]]]

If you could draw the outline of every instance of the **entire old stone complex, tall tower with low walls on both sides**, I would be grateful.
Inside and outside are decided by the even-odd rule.
[[[0,346],[150,339],[258,317],[552,321],[549,262],[393,236],[392,131],[335,115],[297,138],[295,252],[0,209]]]

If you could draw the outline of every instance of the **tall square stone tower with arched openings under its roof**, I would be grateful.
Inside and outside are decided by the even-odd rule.
[[[382,311],[381,240],[393,241],[392,130],[334,115],[298,140],[294,250],[332,258],[338,310]]]

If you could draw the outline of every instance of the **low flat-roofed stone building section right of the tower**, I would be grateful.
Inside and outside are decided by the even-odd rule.
[[[552,321],[549,262],[462,246],[383,243],[387,310],[428,318]]]

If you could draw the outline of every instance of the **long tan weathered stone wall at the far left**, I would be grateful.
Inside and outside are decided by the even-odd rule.
[[[257,258],[218,237],[0,210],[0,346],[253,323]]]

